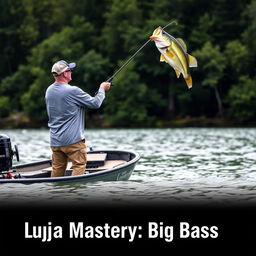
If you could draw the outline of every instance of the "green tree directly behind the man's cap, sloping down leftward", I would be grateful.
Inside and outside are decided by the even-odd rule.
[[[47,118],[44,94],[53,81],[50,73],[53,63],[60,59],[76,61],[81,52],[90,47],[92,26],[81,17],[74,17],[72,25],[33,48],[26,67],[20,66],[16,73],[4,79],[0,85],[0,91],[4,90],[8,95],[15,95],[15,90],[18,90],[17,102],[31,118]],[[16,105],[19,108],[18,103]]]

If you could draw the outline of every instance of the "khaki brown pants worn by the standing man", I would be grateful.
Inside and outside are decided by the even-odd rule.
[[[86,145],[84,141],[52,149],[52,174],[51,177],[65,175],[68,159],[72,161],[72,176],[84,174],[86,167]]]

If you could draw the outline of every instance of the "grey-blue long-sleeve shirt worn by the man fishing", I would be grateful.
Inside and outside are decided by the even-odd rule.
[[[45,102],[51,146],[66,146],[83,140],[84,108],[99,108],[104,98],[103,88],[91,97],[80,88],[66,83],[50,85],[45,93]]]

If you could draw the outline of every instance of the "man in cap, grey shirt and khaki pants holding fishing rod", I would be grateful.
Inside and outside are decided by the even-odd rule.
[[[86,166],[84,137],[84,108],[99,108],[110,83],[103,82],[95,97],[68,83],[72,80],[75,63],[64,60],[52,66],[55,82],[45,94],[49,117],[50,144],[52,149],[52,177],[65,175],[68,158],[73,165],[72,175],[81,175]]]

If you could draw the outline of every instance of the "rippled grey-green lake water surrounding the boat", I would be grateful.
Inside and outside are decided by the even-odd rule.
[[[47,129],[0,134],[18,145],[20,163],[51,157]],[[95,150],[140,154],[129,181],[2,184],[1,204],[256,202],[256,128],[87,129],[85,134],[87,146]]]

